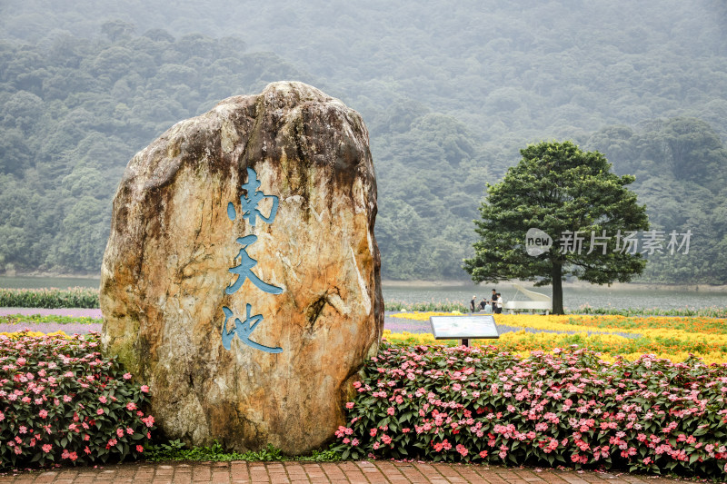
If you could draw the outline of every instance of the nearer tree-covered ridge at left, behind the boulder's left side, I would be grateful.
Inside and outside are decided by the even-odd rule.
[[[300,77],[274,54],[150,31],[112,43],[0,44],[0,262],[98,272],[134,153],[232,93]]]

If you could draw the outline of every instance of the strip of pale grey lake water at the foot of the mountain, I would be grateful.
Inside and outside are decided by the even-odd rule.
[[[89,287],[97,289],[100,285],[98,279],[66,278],[66,277],[7,277],[0,276],[0,288],[48,288],[65,289],[68,287]],[[533,291],[552,295],[550,287],[531,288]],[[476,286],[465,285],[405,285],[402,283],[383,284],[384,301],[426,302],[426,301],[452,301],[469,304],[473,295],[478,301],[489,297],[491,290],[496,288],[503,294],[504,301],[513,299],[525,300],[518,294],[512,284],[489,284]],[[642,287],[607,286],[564,287],[563,305],[566,309],[575,310],[584,304],[593,308],[710,308],[727,307],[727,292],[711,291],[673,291],[643,289]]]

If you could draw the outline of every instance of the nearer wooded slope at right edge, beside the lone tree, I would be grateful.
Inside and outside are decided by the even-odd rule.
[[[727,283],[727,148],[709,124],[673,118],[639,130],[613,126],[588,145],[609,153],[617,173],[636,175],[632,190],[646,202],[652,230],[665,232],[664,253],[648,257],[643,281]],[[687,230],[688,253],[686,245],[669,253],[670,232]]]

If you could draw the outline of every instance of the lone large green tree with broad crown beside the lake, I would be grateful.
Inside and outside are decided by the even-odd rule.
[[[480,239],[463,266],[474,282],[553,284],[553,313],[563,314],[566,276],[605,284],[642,272],[646,261],[633,232],[647,231],[649,221],[626,187],[632,175],[612,173],[602,153],[568,141],[532,144],[520,153],[523,159],[502,182],[487,184],[482,220],[474,221]]]

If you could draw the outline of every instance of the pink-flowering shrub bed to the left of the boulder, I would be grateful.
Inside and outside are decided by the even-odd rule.
[[[136,458],[148,387],[98,352],[97,334],[0,336],[0,469]]]

